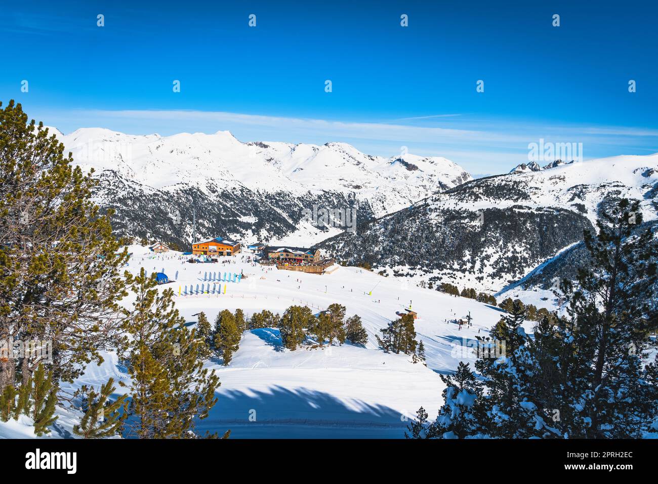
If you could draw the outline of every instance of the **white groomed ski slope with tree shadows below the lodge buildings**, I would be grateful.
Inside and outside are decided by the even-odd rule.
[[[453,372],[460,360],[472,367],[475,357],[468,342],[488,336],[502,315],[499,308],[358,267],[333,267],[332,273],[315,275],[264,267],[251,254],[222,257],[220,263],[187,263],[190,256],[178,252],[153,254],[141,246],[130,246],[129,252],[126,270],[138,273],[144,267],[168,276],[171,282],[159,288],[174,290],[176,308],[188,325],[200,311],[213,323],[222,309],[241,308],[250,317],[263,309],[283,313],[289,306],[305,305],[318,313],[336,302],[347,308],[347,317],[359,315],[368,331],[365,347],[346,342],[295,351],[282,347],[277,329],[246,331],[228,366],[220,358],[206,362],[221,386],[210,416],[197,425],[202,433],[230,429],[238,439],[403,438],[408,419],[420,406],[430,419],[436,417],[444,386],[440,373]],[[129,297],[124,304],[131,302]],[[415,327],[417,339],[424,342],[426,366],[404,354],[386,354],[376,343],[380,329],[410,306],[418,313]],[[453,320],[469,311],[472,326],[459,329]],[[109,377],[126,379],[116,355],[105,356],[103,365],[89,365],[65,390],[101,385]],[[7,430],[20,434],[20,425],[16,427]],[[70,435],[64,427],[61,436]]]

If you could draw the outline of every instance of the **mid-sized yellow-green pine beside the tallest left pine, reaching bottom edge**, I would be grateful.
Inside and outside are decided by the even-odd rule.
[[[215,405],[219,380],[203,368],[205,343],[174,308],[171,289],[159,292],[155,273],[142,268],[126,273],[135,294],[131,309],[124,309],[125,339],[120,352],[129,383],[128,435],[140,439],[195,438],[195,421],[204,419]]]

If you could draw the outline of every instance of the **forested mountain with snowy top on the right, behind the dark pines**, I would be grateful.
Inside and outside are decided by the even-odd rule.
[[[658,154],[478,178],[322,247],[395,274],[495,292],[580,242],[622,197],[642,201],[647,223],[658,219]]]

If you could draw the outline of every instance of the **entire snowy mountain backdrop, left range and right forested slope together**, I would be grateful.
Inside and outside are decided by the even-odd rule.
[[[582,240],[599,209],[625,196],[656,219],[658,154],[530,163],[473,180],[451,161],[361,153],[348,144],[243,143],[230,132],[132,136],[57,133],[93,167],[118,234],[186,248],[197,236],[324,250],[388,273],[496,292]],[[318,227],[313,207],[357,209],[357,233]]]

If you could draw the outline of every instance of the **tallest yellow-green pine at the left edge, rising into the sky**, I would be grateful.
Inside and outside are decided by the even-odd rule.
[[[118,269],[128,254],[112,235],[113,211],[101,215],[91,200],[91,175],[20,104],[0,109],[0,340],[51,342],[55,381],[102,362],[125,296]],[[40,361],[0,359],[0,394],[25,385]]]

